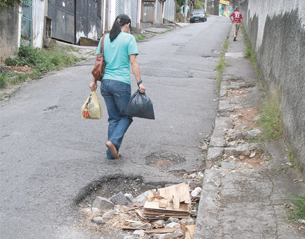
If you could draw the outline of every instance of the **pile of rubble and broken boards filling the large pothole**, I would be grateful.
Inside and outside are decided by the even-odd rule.
[[[97,196],[80,213],[96,231],[120,233],[124,239],[187,239],[193,237],[201,188],[191,196],[182,183],[146,191],[137,197],[117,193],[109,199]]]

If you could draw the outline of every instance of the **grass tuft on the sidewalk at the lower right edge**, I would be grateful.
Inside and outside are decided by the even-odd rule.
[[[286,210],[288,213],[288,220],[299,224],[299,220],[305,218],[305,192],[303,195],[290,193],[290,197],[286,198],[286,200],[291,204]]]

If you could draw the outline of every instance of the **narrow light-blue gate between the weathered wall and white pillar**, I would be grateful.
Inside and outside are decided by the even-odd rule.
[[[32,1],[22,1],[21,44],[32,44]]]

